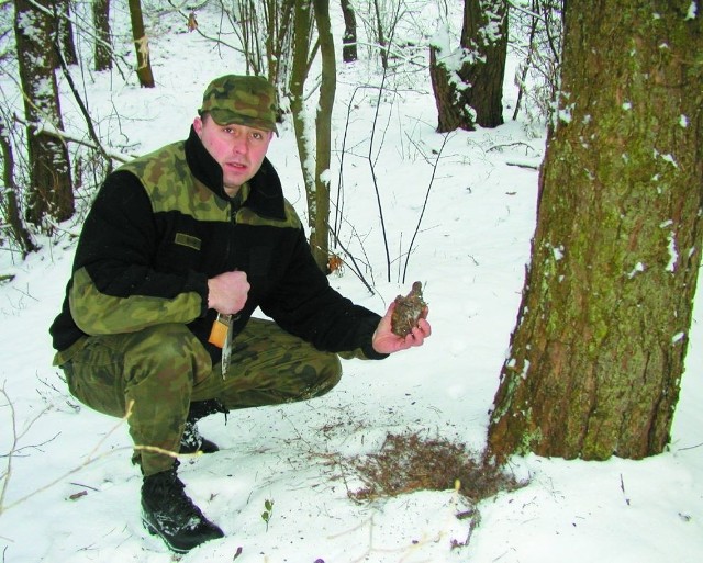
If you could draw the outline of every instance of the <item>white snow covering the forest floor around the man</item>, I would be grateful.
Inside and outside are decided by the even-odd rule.
[[[198,19],[204,33],[215,34],[214,7],[199,12]],[[124,25],[122,21],[118,29]],[[149,20],[149,25],[155,27],[152,63],[157,88],[140,89],[134,75],[124,82],[116,71],[80,77],[101,137],[127,147],[127,154],[187,136],[207,83],[244,69],[233,54],[187,33],[178,14]],[[123,40],[120,48],[126,55],[132,47],[129,37]],[[0,83],[4,91],[13,87],[9,75],[0,76]],[[201,430],[222,451],[185,459],[180,475],[226,538],[181,561],[700,561],[701,306],[690,334],[672,441],[661,455],[598,463],[514,459],[515,475],[528,477],[529,484],[481,503],[480,521],[468,545],[459,549],[451,545],[466,542],[470,520],[456,518],[467,507],[453,491],[370,504],[348,498],[347,492],[361,482],[344,460],[377,452],[388,432],[417,432],[456,440],[475,451],[483,448],[535,226],[537,171],[514,165],[538,165],[545,140],[544,132],[535,135],[521,122],[509,121],[495,130],[450,134],[443,147],[444,136],[434,131],[436,109],[426,70],[391,81],[380,103],[376,89],[356,89],[379,83],[375,61],[339,61],[332,170],[336,187],[346,134],[341,237],[357,258],[368,261],[364,274],[376,293],[369,294],[349,267],[331,282],[382,313],[398,293],[421,280],[433,336],[424,347],[381,362],[346,361],[342,383],[319,399],[233,413],[226,426],[220,415],[203,420]],[[509,75],[506,120],[515,95]],[[375,166],[393,260],[390,281],[368,159],[377,110],[372,154],[378,157]],[[68,95],[64,112],[67,128],[81,131]],[[290,123],[280,132],[269,157],[289,200],[304,215]],[[405,252],[428,190],[403,280]],[[0,385],[7,394],[0,402],[0,462],[9,469],[2,498],[7,511],[0,515],[1,561],[172,561],[175,555],[142,527],[141,476],[130,463],[125,424],[79,405],[52,368],[47,328],[70,271],[75,240],[69,233],[78,233],[80,223],[63,227],[63,236],[44,240],[43,249],[24,262],[7,250],[0,254],[0,273],[15,277],[0,285]],[[14,454],[7,457],[11,449]],[[268,522],[261,518],[267,500],[274,502]]]

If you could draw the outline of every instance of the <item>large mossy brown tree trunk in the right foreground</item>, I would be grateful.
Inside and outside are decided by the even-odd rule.
[[[489,447],[638,459],[669,441],[701,266],[701,19],[680,2],[570,0],[565,25]]]

